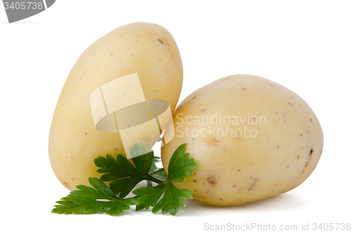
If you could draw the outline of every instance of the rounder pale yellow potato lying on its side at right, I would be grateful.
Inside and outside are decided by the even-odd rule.
[[[173,114],[175,137],[161,149],[165,170],[187,143],[199,166],[179,189],[213,206],[234,206],[282,194],[313,172],[322,128],[308,104],[280,84],[233,75],[189,95]],[[165,134],[168,134],[165,131]]]

